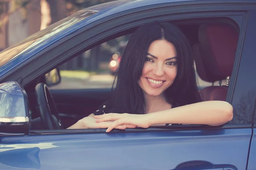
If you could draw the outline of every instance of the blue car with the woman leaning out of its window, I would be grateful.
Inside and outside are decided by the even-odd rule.
[[[233,119],[214,127],[66,129],[111,89],[50,88],[64,80],[58,67],[153,20],[183,31],[198,78],[209,83],[203,99],[229,102]],[[255,0],[120,0],[86,8],[0,53],[0,170],[255,170],[255,75]]]

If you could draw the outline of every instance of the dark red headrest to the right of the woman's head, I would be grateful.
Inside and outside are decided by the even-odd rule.
[[[231,76],[238,38],[239,33],[225,24],[202,24],[199,27],[199,44],[194,45],[193,50],[201,79],[215,82]]]

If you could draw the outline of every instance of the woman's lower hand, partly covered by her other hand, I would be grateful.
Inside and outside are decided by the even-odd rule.
[[[98,128],[108,128],[112,125],[113,121],[105,121],[105,122],[96,122],[91,116],[84,117],[80,119],[76,124],[68,127],[68,129],[98,129]],[[134,125],[119,125],[116,126],[116,129],[125,129],[125,128],[135,128]]]

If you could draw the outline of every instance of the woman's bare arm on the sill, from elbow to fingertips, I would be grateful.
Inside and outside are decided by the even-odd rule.
[[[107,132],[123,124],[138,127],[166,123],[217,126],[223,125],[233,118],[233,107],[224,101],[207,101],[145,115],[109,113],[95,116],[95,118],[96,122],[114,121]]]

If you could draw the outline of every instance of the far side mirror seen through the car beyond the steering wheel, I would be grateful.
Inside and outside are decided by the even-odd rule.
[[[50,87],[52,85],[57,85],[61,82],[60,70],[58,68],[53,69],[49,73],[45,74],[45,84]]]

